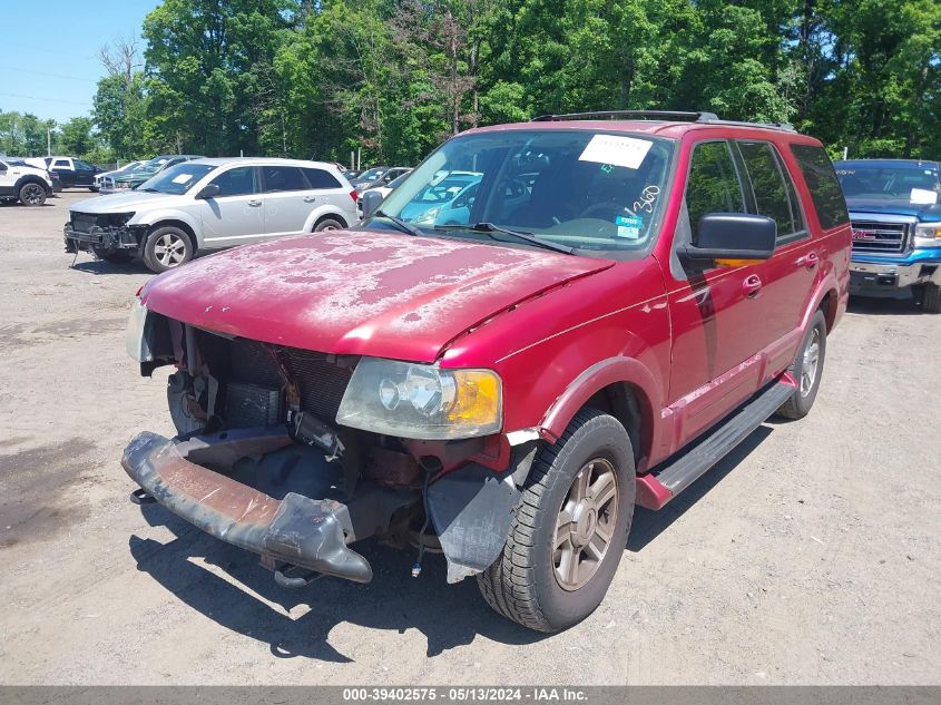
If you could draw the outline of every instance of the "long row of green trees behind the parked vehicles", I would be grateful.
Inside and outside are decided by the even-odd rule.
[[[119,158],[413,164],[469,127],[630,108],[941,158],[937,0],[165,0],[143,39],[95,96]]]

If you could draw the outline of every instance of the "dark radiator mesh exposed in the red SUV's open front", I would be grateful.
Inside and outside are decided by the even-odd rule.
[[[333,423],[352,370],[327,362],[324,353],[285,349],[287,363],[301,393],[301,408]],[[274,360],[262,343],[229,341],[229,379],[271,389],[282,386]]]

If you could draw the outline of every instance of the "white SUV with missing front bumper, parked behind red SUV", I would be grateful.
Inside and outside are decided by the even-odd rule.
[[[356,192],[336,165],[295,159],[193,159],[128,193],[72,206],[66,251],[110,262],[139,256],[154,272],[197,251],[356,222]]]

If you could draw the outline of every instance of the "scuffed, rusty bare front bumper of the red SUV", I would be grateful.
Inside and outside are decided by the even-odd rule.
[[[265,439],[268,450],[291,442],[283,433]],[[190,462],[185,457],[190,445],[198,450],[198,441],[175,443],[144,432],[125,449],[121,466],[157,502],[223,541],[324,575],[372,580],[366,559],[346,547],[345,506],[294,492],[274,499]]]

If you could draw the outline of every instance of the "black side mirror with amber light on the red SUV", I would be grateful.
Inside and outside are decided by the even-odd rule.
[[[768,260],[774,254],[777,223],[747,213],[707,213],[699,218],[695,245],[679,251],[690,264],[741,266]]]

